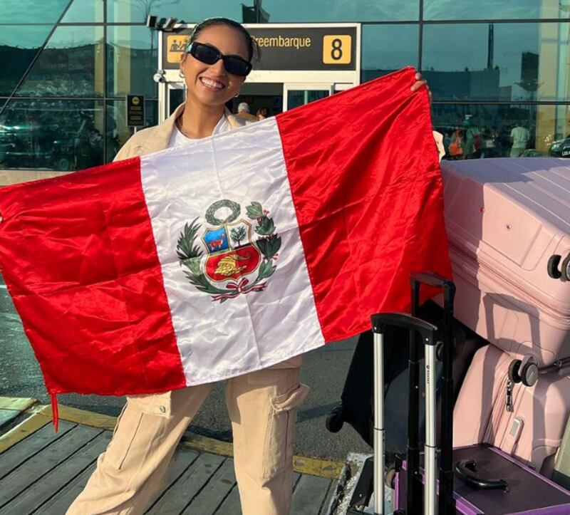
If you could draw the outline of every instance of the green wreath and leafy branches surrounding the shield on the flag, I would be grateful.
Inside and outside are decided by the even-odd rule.
[[[229,215],[225,220],[220,220],[215,217],[215,213],[220,207],[229,207],[232,209],[232,214]],[[240,207],[237,202],[232,202],[231,200],[219,200],[214,202],[207,212],[206,220],[212,225],[222,225],[224,223],[233,222],[239,216]],[[242,288],[240,291],[234,288],[217,288],[212,283],[210,283],[202,268],[200,263],[202,261],[203,253],[202,250],[195,244],[198,232],[200,230],[200,225],[197,223],[197,218],[192,220],[190,224],[185,224],[183,231],[180,233],[180,237],[177,241],[176,254],[180,260],[180,266],[185,270],[185,276],[188,281],[195,286],[199,291],[204,291],[205,293],[212,294],[213,301],[219,301],[219,303],[224,303],[229,298],[234,298],[241,293],[249,293],[250,291],[262,291],[266,285],[264,279],[269,279],[277,266],[274,261],[279,257],[279,249],[281,248],[281,236],[275,232],[275,224],[273,219],[269,217],[269,211],[263,209],[259,202],[252,202],[246,207],[247,217],[252,220],[257,221],[255,227],[255,232],[259,234],[259,238],[255,242],[257,248],[263,256],[263,260],[259,265],[259,270],[257,272],[257,277],[253,283],[247,283],[246,288]],[[226,286],[232,286],[232,283],[227,283]]]

